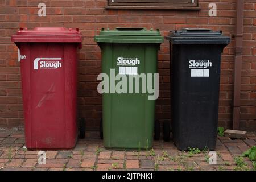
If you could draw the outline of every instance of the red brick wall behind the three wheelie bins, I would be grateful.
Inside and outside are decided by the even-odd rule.
[[[47,6],[47,16],[39,17],[38,4]],[[182,27],[222,30],[232,37],[221,63],[220,126],[232,123],[235,0],[199,0],[201,10],[108,10],[106,0],[43,1],[0,0],[0,127],[23,125],[20,64],[17,48],[10,36],[19,27],[64,26],[80,28],[83,41],[79,53],[79,116],[87,126],[97,129],[101,118],[101,96],[97,93],[97,75],[101,73],[101,51],[93,36],[102,27],[159,28],[162,35]],[[210,18],[208,5],[217,4],[217,17]],[[256,129],[256,2],[245,0],[243,65],[241,91],[241,129]],[[168,41],[159,51],[160,97],[156,118],[170,119],[170,59]]]

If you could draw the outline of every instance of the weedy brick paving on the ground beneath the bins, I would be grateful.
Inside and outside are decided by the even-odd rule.
[[[256,134],[250,133],[245,140],[218,137],[217,164],[208,163],[208,152],[179,151],[172,142],[154,141],[148,151],[106,150],[97,133],[87,133],[79,139],[73,150],[46,151],[46,164],[38,163],[38,151],[26,150],[24,133],[0,131],[0,170],[2,171],[95,171],[95,170],[253,170],[248,158],[247,167],[236,165],[234,158],[256,144]]]

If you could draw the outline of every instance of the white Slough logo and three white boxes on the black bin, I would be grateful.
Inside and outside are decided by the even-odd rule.
[[[190,60],[189,68],[191,69],[191,77],[210,77],[210,69],[212,67],[210,60]]]

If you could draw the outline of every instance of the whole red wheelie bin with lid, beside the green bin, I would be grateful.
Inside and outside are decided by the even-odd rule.
[[[72,148],[77,140],[77,48],[81,32],[36,27],[12,36],[19,48],[27,148]]]

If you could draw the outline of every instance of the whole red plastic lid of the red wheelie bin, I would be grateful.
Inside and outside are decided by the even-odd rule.
[[[18,42],[82,42],[82,34],[78,28],[35,27],[32,30],[20,28],[11,40]]]

